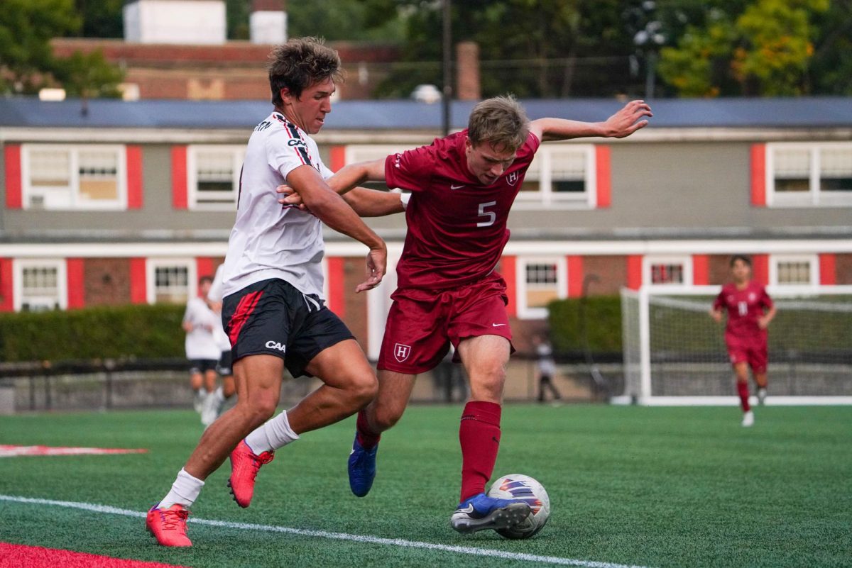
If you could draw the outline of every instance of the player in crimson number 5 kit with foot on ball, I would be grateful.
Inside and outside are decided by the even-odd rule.
[[[339,191],[368,180],[411,191],[400,196],[356,188],[344,195],[365,216],[405,210],[408,225],[379,355],[379,392],[358,415],[349,457],[355,495],[370,491],[379,435],[402,416],[417,374],[438,365],[452,344],[469,376],[470,398],[459,427],[461,503],[451,525],[470,532],[526,519],[525,503],[484,493],[497,459],[505,366],[512,349],[506,284],[494,271],[509,241],[509,209],[542,141],[623,138],[648,124],[645,116],[651,116],[650,107],[635,100],[606,122],[529,122],[515,99],[486,99],[475,106],[462,132],[349,165],[329,180]],[[296,203],[298,197],[282,202]]]

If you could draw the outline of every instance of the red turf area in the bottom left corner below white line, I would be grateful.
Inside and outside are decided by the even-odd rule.
[[[174,564],[111,558],[40,546],[0,542],[0,568],[181,568]]]

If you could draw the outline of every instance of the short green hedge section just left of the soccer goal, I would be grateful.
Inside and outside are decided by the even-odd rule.
[[[567,298],[548,305],[550,340],[556,352],[584,350],[582,314],[585,310],[585,327],[589,349],[592,353],[619,353],[621,351],[621,298],[619,296],[592,296]]]

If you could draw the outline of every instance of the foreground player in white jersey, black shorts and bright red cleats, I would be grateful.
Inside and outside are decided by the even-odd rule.
[[[273,49],[268,70],[275,108],[245,152],[222,289],[238,400],[204,431],[171,490],[148,512],[147,528],[164,546],[192,545],[189,508],[228,455],[234,498],[247,507],[257,469],[275,449],[351,416],[377,393],[364,352],[322,298],[320,222],[369,248],[367,279],[356,292],[382,281],[387,260],[384,241],[325,183],[331,171],[309,137],[331,112],[340,58],[320,40],[296,38]],[[283,183],[309,213],[279,204],[275,189]],[[310,374],[324,384],[269,420],[285,366],[294,377]]]

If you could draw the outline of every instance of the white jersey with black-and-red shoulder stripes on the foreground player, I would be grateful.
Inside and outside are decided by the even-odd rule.
[[[237,220],[227,241],[223,295],[280,278],[304,294],[323,297],[320,219],[282,206],[275,193],[287,174],[306,164],[324,179],[332,175],[320,160],[316,142],[281,113],[273,112],[251,133],[240,175]]]

